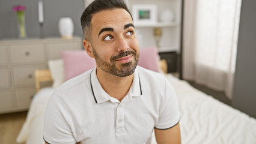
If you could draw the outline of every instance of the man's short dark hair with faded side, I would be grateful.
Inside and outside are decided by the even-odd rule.
[[[128,10],[124,0],[95,0],[91,2],[90,5],[88,5],[81,16],[81,26],[84,32],[85,40],[91,40],[92,15],[103,10],[113,10],[115,8],[123,8],[130,14],[130,11]],[[130,14],[130,16],[132,17],[132,14]]]

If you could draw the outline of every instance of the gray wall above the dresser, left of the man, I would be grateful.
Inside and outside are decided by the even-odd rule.
[[[26,5],[26,34],[28,37],[40,37],[37,0],[0,0],[0,38],[17,38],[16,14],[13,5]],[[74,23],[74,35],[83,37],[80,17],[84,11],[84,0],[43,0],[44,36],[58,37],[58,20],[71,17]]]

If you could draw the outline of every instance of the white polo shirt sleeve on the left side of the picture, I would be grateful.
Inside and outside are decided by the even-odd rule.
[[[44,114],[43,139],[47,143],[76,143],[70,128],[70,116],[56,89],[50,97]]]

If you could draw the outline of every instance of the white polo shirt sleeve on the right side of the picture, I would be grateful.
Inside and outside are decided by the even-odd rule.
[[[165,130],[180,121],[180,112],[178,110],[178,101],[174,89],[168,80],[165,79],[165,95],[161,100],[159,107],[159,119],[155,128]]]

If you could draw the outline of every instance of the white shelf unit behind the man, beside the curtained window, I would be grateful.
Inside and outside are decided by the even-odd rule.
[[[136,35],[141,49],[156,46],[154,28],[162,29],[162,37],[159,43],[159,52],[180,53],[181,35],[181,3],[182,0],[129,0],[129,10],[133,11],[133,4],[155,4],[157,6],[157,22],[146,25],[135,24]],[[172,22],[161,22],[159,17],[163,10],[171,10],[174,13]]]

